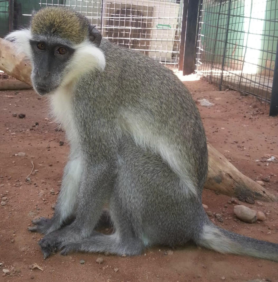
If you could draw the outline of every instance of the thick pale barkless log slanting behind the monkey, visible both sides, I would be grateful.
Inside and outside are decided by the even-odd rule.
[[[16,54],[13,44],[0,38],[0,69],[31,84],[31,64],[23,54]],[[257,182],[243,175],[220,152],[208,144],[209,169],[205,189],[236,196],[239,200],[254,203],[255,199],[277,202],[278,198]]]

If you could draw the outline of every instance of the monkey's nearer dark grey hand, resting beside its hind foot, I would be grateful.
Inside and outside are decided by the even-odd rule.
[[[61,249],[62,243],[80,241],[83,238],[81,234],[81,230],[74,223],[48,233],[39,241],[43,258],[47,258],[51,253]]]

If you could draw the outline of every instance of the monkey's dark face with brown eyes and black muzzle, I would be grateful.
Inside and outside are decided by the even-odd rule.
[[[41,35],[33,36],[30,46],[33,86],[40,95],[52,93],[61,85],[67,73],[74,48],[66,40]]]

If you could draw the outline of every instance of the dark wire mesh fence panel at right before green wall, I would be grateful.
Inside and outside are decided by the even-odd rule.
[[[277,39],[277,0],[200,1],[196,73],[270,101]]]

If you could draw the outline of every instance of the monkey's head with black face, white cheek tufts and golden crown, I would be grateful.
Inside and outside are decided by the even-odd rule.
[[[39,10],[32,15],[29,29],[6,36],[31,59],[31,80],[40,95],[74,83],[88,71],[103,70],[101,38],[84,16],[62,7]]]

